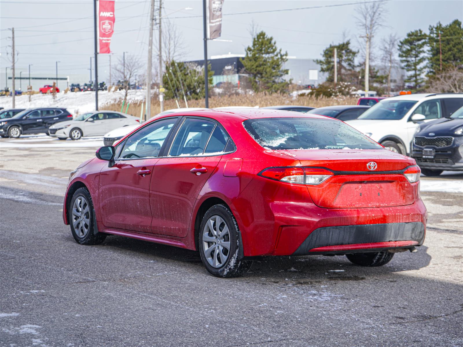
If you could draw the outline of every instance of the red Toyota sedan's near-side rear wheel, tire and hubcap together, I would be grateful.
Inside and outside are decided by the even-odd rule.
[[[204,215],[199,232],[201,260],[216,277],[238,277],[246,273],[250,260],[238,260],[239,229],[232,211],[225,205],[214,205]]]

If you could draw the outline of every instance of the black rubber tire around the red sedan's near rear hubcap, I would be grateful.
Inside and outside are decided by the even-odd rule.
[[[219,241],[217,241],[219,242],[218,244],[204,240],[204,238],[207,237],[205,233],[207,234],[206,230],[208,229],[205,228],[208,220],[217,216],[220,217],[221,222],[219,222],[219,226],[217,226],[217,223],[214,223],[213,228],[218,228],[220,231],[223,231],[225,229],[225,224],[226,227],[228,227],[228,234],[223,236],[224,238],[221,241],[222,243],[220,242],[219,237]],[[209,235],[215,237],[212,233],[210,233]],[[230,211],[230,209],[227,206],[218,204],[212,206],[209,210],[207,210],[206,214],[204,215],[201,221],[198,238],[201,260],[204,266],[206,266],[206,270],[212,275],[222,278],[238,277],[243,275],[250,269],[252,265],[251,260],[238,260],[238,256],[240,253],[239,247],[241,247],[239,242],[238,224],[236,223],[235,217],[233,217],[232,211]],[[222,246],[222,250],[219,251],[220,245],[225,244],[224,242],[227,242],[227,244],[230,245],[230,248],[226,250],[225,246]],[[224,254],[226,256],[226,260],[222,261],[220,259],[220,264],[218,264],[218,266],[216,267],[209,264],[209,258],[208,256],[206,256],[207,252],[205,252],[204,250],[204,243],[210,245],[210,248],[216,247],[214,250],[209,252],[209,255],[211,255],[212,257],[214,257],[214,255],[216,255],[215,253],[217,253],[215,259],[220,259],[220,254],[224,254],[224,251],[226,250],[227,254]]]

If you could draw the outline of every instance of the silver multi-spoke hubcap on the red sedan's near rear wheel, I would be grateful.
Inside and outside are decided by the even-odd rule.
[[[230,255],[230,231],[220,216],[207,220],[202,235],[203,253],[209,265],[218,268]]]

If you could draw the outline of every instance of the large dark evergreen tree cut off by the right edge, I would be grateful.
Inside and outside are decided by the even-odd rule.
[[[442,70],[463,64],[463,27],[462,22],[455,19],[448,25],[440,22],[429,26],[429,69],[430,74],[440,72],[439,33],[442,46]]]

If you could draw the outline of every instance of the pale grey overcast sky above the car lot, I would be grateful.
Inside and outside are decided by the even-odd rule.
[[[356,25],[357,2],[350,1],[271,1],[271,0],[225,0],[223,7],[222,39],[233,42],[209,42],[208,53],[219,55],[244,53],[251,43],[250,22],[258,25],[276,40],[278,47],[297,58],[319,58],[330,43],[338,43],[343,33],[357,44],[360,31]],[[158,1],[156,0],[156,5]],[[293,11],[235,14],[267,10],[294,9],[327,5],[343,5]],[[149,25],[149,0],[116,0],[114,35],[111,45],[113,62],[123,51],[147,59]],[[164,0],[163,15],[192,7],[191,11],[176,12],[168,16],[177,26],[185,42],[185,60],[203,57],[202,1]],[[422,29],[438,21],[448,24],[454,19],[463,20],[461,0],[389,0],[386,1],[384,26],[374,40],[396,33],[404,37],[408,31]],[[195,18],[181,18],[198,16]],[[55,75],[55,62],[59,63],[59,74],[88,74],[89,59],[93,54],[93,1],[92,0],[0,0],[0,71],[11,64],[7,60],[7,38],[14,26],[16,48],[19,51],[17,72],[27,71]],[[157,30],[154,35],[158,35]],[[99,56],[100,80],[108,74],[108,55]],[[10,73],[11,74],[11,73]],[[3,77],[4,78],[4,77]],[[0,81],[0,85],[4,83]],[[10,82],[11,83],[11,82]]]

